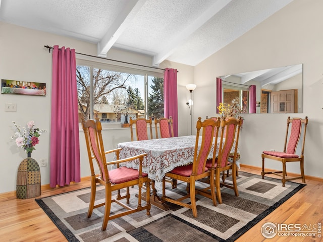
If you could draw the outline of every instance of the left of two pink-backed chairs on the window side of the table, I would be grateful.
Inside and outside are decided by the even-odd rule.
[[[136,127],[137,141],[149,139],[148,138],[148,131],[147,131],[148,126],[149,126],[149,131],[150,131],[150,139],[152,140],[152,128],[151,128],[152,120],[151,120],[151,117],[149,117],[148,119],[146,119],[144,117],[138,117],[136,119],[132,119],[130,117],[129,123],[130,123],[130,132],[131,132],[131,141],[134,141],[134,138],[133,138],[134,126]]]

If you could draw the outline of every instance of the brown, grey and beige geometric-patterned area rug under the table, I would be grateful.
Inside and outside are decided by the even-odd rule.
[[[101,231],[104,207],[94,209],[91,218],[86,216],[89,188],[36,202],[68,241],[234,241],[305,186],[289,181],[282,187],[280,179],[261,179],[241,171],[237,182],[239,197],[233,190],[222,188],[223,204],[217,207],[210,199],[197,195],[197,218],[191,210],[177,205],[168,204],[167,211],[151,206],[150,216],[144,210],[111,220],[106,231]],[[185,188],[186,184],[178,184],[177,189],[170,187],[167,192],[174,197],[186,193]],[[104,190],[97,189],[96,200],[103,201]],[[131,193],[136,192],[136,188],[131,189]],[[133,195],[130,206],[136,206],[136,202]],[[117,212],[120,207],[114,206],[112,212]]]

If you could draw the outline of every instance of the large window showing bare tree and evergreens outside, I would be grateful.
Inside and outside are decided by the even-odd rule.
[[[78,60],[76,76],[79,123],[82,118],[128,123],[130,117],[164,116],[164,72]]]

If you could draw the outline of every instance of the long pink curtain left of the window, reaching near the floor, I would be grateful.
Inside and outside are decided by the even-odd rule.
[[[51,188],[81,180],[77,100],[75,49],[55,45],[52,51]]]

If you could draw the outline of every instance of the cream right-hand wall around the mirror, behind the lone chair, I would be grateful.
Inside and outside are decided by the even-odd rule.
[[[245,114],[239,148],[241,163],[261,167],[263,150],[282,150],[286,119],[308,116],[305,174],[323,177],[323,1],[295,0],[195,67],[194,118],[216,114],[216,77],[273,67],[304,64],[303,113]],[[208,98],[205,98],[208,97]],[[266,162],[270,163],[270,161]],[[272,161],[268,167],[280,169]],[[287,171],[300,173],[299,163]]]

